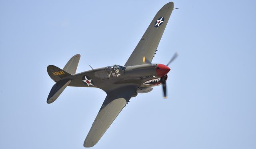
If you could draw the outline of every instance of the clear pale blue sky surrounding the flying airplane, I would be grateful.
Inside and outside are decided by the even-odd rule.
[[[0,148],[83,149],[102,102],[67,87],[52,104],[46,68],[124,65],[167,0],[0,0]],[[94,149],[256,149],[256,2],[175,0],[153,63],[179,57],[138,94]]]

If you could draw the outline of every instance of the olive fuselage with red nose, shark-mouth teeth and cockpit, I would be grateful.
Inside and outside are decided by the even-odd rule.
[[[170,71],[170,68],[163,64],[143,64],[123,68],[125,70],[121,70],[122,68],[114,70],[113,66],[109,66],[81,72],[71,77],[72,81],[69,86],[97,87],[104,90],[107,87],[119,87],[118,84],[131,83],[142,87],[153,87],[161,85],[160,78],[166,76],[167,79],[166,74]],[[90,80],[90,83],[87,80]]]

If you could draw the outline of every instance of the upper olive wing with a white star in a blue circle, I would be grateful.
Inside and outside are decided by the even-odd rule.
[[[169,2],[157,12],[124,66],[150,64],[152,62],[173,7],[173,2]]]

